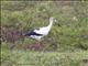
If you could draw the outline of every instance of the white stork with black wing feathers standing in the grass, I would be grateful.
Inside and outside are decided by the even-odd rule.
[[[37,42],[40,42],[42,37],[46,36],[50,33],[50,31],[51,31],[51,29],[53,26],[53,22],[54,22],[54,18],[50,18],[50,24],[47,26],[35,29],[35,30],[33,30],[31,32],[28,32],[24,35],[25,36],[30,36],[32,38],[35,38]]]

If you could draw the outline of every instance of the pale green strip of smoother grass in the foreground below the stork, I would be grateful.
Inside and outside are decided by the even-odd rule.
[[[1,50],[1,66],[87,66],[88,51],[74,53]]]

